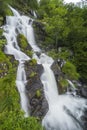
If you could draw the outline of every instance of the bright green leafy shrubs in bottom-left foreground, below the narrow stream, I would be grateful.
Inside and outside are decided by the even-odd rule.
[[[43,130],[34,117],[24,118],[20,111],[0,113],[0,130]]]

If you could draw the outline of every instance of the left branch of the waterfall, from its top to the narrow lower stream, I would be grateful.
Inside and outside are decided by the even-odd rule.
[[[20,22],[19,21],[20,14],[12,7],[10,8],[15,16],[6,17],[6,25],[3,27],[4,29],[3,35],[7,39],[7,45],[5,45],[4,51],[5,54],[13,55],[15,59],[19,61],[16,85],[20,94],[21,108],[25,112],[25,117],[28,117],[30,106],[27,98],[27,92],[25,89],[26,74],[24,70],[24,62],[26,60],[30,60],[30,58],[20,50],[16,39],[17,37],[16,29],[19,29],[18,24]]]

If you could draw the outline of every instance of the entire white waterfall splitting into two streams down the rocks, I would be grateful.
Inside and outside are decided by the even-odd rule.
[[[4,36],[7,38],[5,53],[14,55],[15,59],[19,61],[16,84],[21,97],[21,106],[26,116],[29,115],[29,103],[25,89],[26,74],[24,62],[30,58],[21,52],[18,47],[15,30],[24,34],[34,51],[33,58],[37,60],[38,64],[42,64],[44,68],[44,73],[40,79],[44,86],[49,110],[42,120],[42,125],[45,126],[46,130],[83,130],[81,116],[85,108],[87,108],[85,99],[68,94],[58,95],[55,77],[51,70],[53,59],[44,53],[41,53],[40,57],[35,53],[41,52],[41,50],[36,45],[34,39],[33,20],[27,16],[20,16],[16,10],[12,7],[10,8],[14,16],[7,17],[7,24],[4,26]]]

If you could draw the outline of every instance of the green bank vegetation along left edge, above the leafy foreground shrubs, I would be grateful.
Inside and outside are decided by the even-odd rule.
[[[19,95],[16,90],[16,67],[13,68],[11,57],[4,54],[6,39],[0,29],[0,112],[19,109]]]

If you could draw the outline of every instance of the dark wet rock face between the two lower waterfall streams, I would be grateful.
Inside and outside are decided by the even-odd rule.
[[[25,71],[27,76],[27,93],[30,101],[31,116],[43,118],[48,111],[48,104],[45,99],[43,85],[40,76],[43,73],[42,65],[25,63]]]

